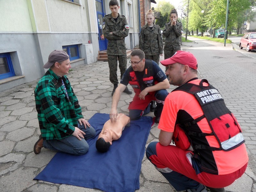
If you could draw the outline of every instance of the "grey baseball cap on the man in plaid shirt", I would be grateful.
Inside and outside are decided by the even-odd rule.
[[[69,59],[68,54],[63,50],[54,50],[48,57],[48,62],[44,64],[44,68],[50,68],[55,62],[61,62]]]

